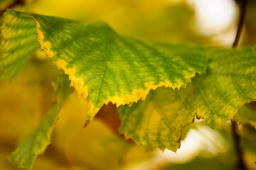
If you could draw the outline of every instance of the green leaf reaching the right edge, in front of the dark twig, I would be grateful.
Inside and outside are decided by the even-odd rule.
[[[238,108],[256,100],[256,48],[213,50],[208,74],[195,81],[194,111],[212,128],[233,119]]]

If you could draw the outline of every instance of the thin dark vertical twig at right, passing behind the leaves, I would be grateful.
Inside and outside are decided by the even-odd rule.
[[[238,30],[235,35],[235,40],[233,42],[232,47],[238,47],[238,42],[240,40],[240,35],[243,30],[243,25],[245,23],[245,13],[246,13],[246,6],[247,6],[247,0],[242,0],[242,4],[240,6],[240,18],[238,22]],[[240,170],[246,170],[245,162],[243,159],[243,147],[242,147],[242,141],[240,136],[238,135],[238,122],[232,121],[232,134],[233,134],[233,140],[234,140],[234,147],[235,147],[235,152],[238,157],[238,162],[236,165],[236,169]]]

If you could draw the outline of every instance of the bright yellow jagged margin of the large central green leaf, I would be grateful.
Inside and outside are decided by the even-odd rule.
[[[29,15],[20,15],[20,16],[33,18],[33,20],[36,23],[36,30],[37,30],[37,34],[38,34],[37,40],[38,40],[38,42],[40,42],[40,46],[45,51],[45,54],[47,55],[47,57],[53,58],[55,56],[55,52],[51,50],[51,48],[52,48],[51,43],[49,41],[45,40],[45,35],[43,35],[43,31],[41,30],[40,23],[33,16],[29,16]],[[88,87],[84,86],[84,81],[81,77],[77,77],[75,75],[75,73],[76,73],[75,67],[67,68],[66,67],[67,62],[65,62],[65,60],[61,60],[61,59],[53,62],[53,64],[55,64],[55,66],[58,69],[62,69],[65,72],[65,74],[67,74],[69,76],[70,86],[73,86],[75,91],[77,91],[78,96],[81,96],[87,102],[87,104],[89,106],[89,110],[87,111],[86,122],[89,123],[89,121],[91,121],[94,118],[94,115],[96,115],[96,113],[99,111],[99,109],[101,107],[97,108],[96,106],[94,106],[94,103],[87,100]],[[178,82],[177,84],[172,84],[170,81],[165,81],[165,82],[161,82],[160,84],[155,85],[155,82],[149,81],[149,82],[145,83],[145,89],[134,89],[131,94],[125,94],[123,96],[109,97],[108,100],[104,101],[104,103],[108,104],[109,102],[111,102],[113,104],[116,104],[117,107],[123,106],[126,104],[128,104],[128,106],[130,106],[132,103],[138,102],[139,100],[145,101],[145,98],[148,96],[150,90],[155,90],[160,86],[165,86],[165,88],[172,88],[173,90],[174,89],[179,90],[181,87],[186,88],[187,83],[191,83],[191,78],[195,77],[196,74],[201,75],[202,73],[194,71],[194,73],[187,74],[184,77],[186,79],[186,82],[177,80],[177,82]],[[102,103],[101,106],[103,106],[104,103]],[[87,125],[87,123],[86,123],[86,125]]]

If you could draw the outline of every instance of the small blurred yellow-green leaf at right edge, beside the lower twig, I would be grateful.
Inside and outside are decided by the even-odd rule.
[[[238,115],[235,115],[235,120],[239,123],[249,123],[256,128],[256,110],[249,106],[242,106],[238,109]]]

